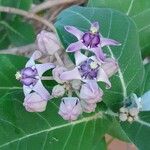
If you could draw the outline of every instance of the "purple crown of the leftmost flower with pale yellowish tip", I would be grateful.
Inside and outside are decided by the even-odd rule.
[[[22,84],[26,86],[34,86],[38,81],[37,69],[33,67],[26,67],[16,73],[16,79],[20,80]]]

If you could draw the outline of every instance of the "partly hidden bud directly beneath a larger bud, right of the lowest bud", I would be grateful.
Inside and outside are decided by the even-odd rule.
[[[89,104],[89,103],[86,103],[84,100],[81,100],[81,107],[84,112],[91,113],[95,111],[96,103]]]

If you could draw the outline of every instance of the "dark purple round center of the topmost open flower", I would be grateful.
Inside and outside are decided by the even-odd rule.
[[[82,42],[86,47],[94,48],[100,43],[100,36],[98,33],[86,32],[82,37]]]

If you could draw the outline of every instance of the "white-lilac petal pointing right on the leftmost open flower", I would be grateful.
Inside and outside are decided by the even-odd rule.
[[[45,63],[45,64],[36,64],[35,67],[38,71],[39,76],[41,77],[44,72],[46,72],[49,69],[54,68],[55,65],[52,63]]]

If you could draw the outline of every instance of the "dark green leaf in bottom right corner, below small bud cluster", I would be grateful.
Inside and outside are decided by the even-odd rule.
[[[122,128],[139,150],[149,149],[150,112],[142,112],[139,119],[133,123],[122,122]]]

